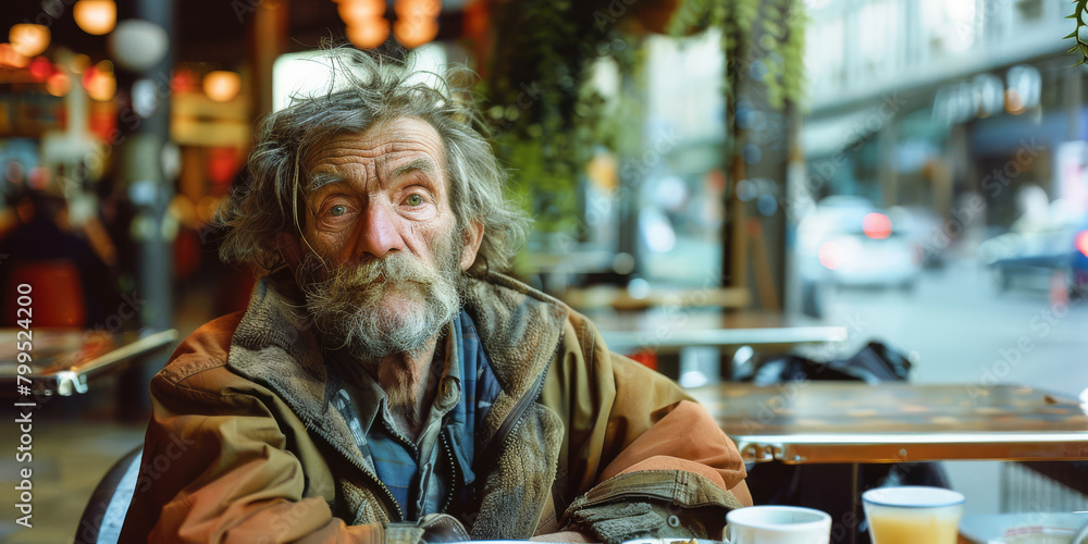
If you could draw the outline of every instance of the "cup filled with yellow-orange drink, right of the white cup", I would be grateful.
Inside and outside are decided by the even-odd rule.
[[[875,544],[955,544],[964,496],[943,487],[903,485],[862,493]]]

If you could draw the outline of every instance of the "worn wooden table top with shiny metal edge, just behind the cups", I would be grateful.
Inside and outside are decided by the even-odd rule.
[[[1031,387],[808,381],[689,393],[749,461],[1088,459],[1086,407]]]

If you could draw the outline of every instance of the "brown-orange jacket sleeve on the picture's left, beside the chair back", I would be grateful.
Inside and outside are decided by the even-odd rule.
[[[267,400],[211,386],[231,375],[210,366],[182,382],[152,381],[121,542],[382,542],[381,526],[349,527],[325,498],[304,496],[301,463]]]

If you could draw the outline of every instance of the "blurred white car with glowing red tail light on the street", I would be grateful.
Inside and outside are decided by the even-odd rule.
[[[913,289],[922,246],[868,200],[828,197],[798,225],[803,283]]]

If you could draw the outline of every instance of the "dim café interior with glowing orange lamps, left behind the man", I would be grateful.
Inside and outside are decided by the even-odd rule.
[[[250,273],[219,263],[211,220],[244,168],[256,122],[273,108],[273,64],[284,53],[319,48],[331,33],[346,33],[359,12],[347,4],[366,12],[363,4],[372,3],[201,1],[175,9],[159,1],[79,0],[7,7],[0,238],[22,224],[20,209],[28,218],[39,197],[55,200],[63,207],[62,231],[89,243],[96,267],[108,270],[96,282],[102,285],[74,292],[100,288],[148,300],[124,329],[168,326],[174,299],[194,293],[213,312],[237,309],[248,289],[233,277]],[[420,3],[405,0],[398,9]],[[465,2],[425,3],[443,10],[428,8],[433,24],[419,25],[425,36],[387,28],[382,41],[388,36],[416,47],[461,35]],[[225,286],[208,288],[217,284]],[[239,292],[242,297],[221,296]],[[67,324],[92,327],[102,319],[83,316]]]

